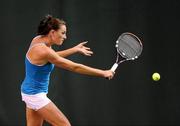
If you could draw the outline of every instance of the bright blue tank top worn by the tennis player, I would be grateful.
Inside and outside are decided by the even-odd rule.
[[[40,92],[48,92],[49,78],[54,64],[46,63],[38,66],[30,63],[25,58],[26,76],[21,85],[21,92],[25,94],[37,94]]]

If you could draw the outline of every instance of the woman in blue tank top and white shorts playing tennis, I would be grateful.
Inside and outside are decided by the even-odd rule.
[[[54,51],[52,45],[61,45],[66,37],[66,23],[63,20],[45,16],[38,26],[26,53],[26,75],[21,84],[22,100],[26,104],[27,126],[42,126],[47,121],[53,126],[70,126],[70,122],[56,105],[47,97],[49,77],[54,65],[72,72],[112,79],[111,70],[100,70],[72,62],[65,57],[81,53],[91,56],[93,52],[86,42],[64,50]]]

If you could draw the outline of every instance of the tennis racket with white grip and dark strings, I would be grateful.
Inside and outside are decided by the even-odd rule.
[[[115,72],[124,61],[137,59],[143,50],[141,40],[130,32],[122,33],[116,41],[117,58],[111,70]],[[120,57],[121,56],[121,57]]]

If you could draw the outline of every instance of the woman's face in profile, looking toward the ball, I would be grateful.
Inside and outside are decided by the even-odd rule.
[[[66,38],[67,38],[67,36],[66,36],[66,26],[61,25],[59,30],[54,31],[53,40],[54,40],[55,44],[62,45],[62,43],[64,42],[64,40]]]

